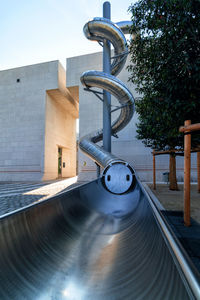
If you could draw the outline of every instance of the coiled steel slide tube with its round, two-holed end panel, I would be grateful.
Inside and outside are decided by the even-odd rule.
[[[131,120],[134,113],[134,98],[125,84],[114,77],[123,68],[128,48],[123,31],[126,32],[130,22],[123,22],[122,30],[118,25],[105,18],[94,18],[84,26],[84,34],[90,40],[102,42],[109,40],[114,47],[114,59],[111,64],[111,74],[98,71],[84,72],[81,83],[87,87],[97,87],[111,93],[121,104],[119,117],[112,123],[112,135],[122,130]],[[130,25],[130,24],[129,24]],[[130,189],[134,181],[134,171],[131,166],[113,154],[96,145],[103,139],[103,130],[98,130],[84,136],[80,142],[80,149],[97,162],[103,171],[103,181],[106,188],[112,193],[122,194]]]

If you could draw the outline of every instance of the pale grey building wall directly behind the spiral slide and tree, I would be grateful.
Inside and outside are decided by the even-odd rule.
[[[129,64],[127,60],[126,66]],[[135,87],[128,82],[128,71],[126,66],[118,75],[130,89],[134,97],[137,97]],[[67,59],[67,86],[73,87],[79,85],[79,134],[80,137],[92,132],[95,129],[102,128],[102,102],[92,93],[83,90],[80,84],[80,76],[87,70],[102,70],[102,53],[94,53],[79,57]],[[112,99],[112,104],[116,104]],[[116,118],[112,115],[112,120]],[[143,181],[152,181],[152,155],[151,149],[146,148],[144,144],[136,139],[136,123],[138,117],[136,113],[128,126],[119,132],[119,139],[112,138],[112,152],[118,157],[123,158],[132,164],[137,171],[140,179]],[[192,158],[192,180],[196,178],[195,155]],[[96,177],[96,166],[89,158],[79,151],[79,179],[91,180]],[[157,180],[163,180],[163,172],[169,170],[169,157],[157,156]],[[183,179],[183,158],[177,158],[177,177]]]

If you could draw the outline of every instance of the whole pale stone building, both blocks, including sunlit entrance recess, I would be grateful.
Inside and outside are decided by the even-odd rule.
[[[129,64],[127,61],[126,66]],[[118,75],[128,82],[126,66]],[[67,71],[58,61],[0,71],[0,181],[40,181],[76,175],[76,119],[79,136],[102,128],[102,102],[86,92],[80,76],[102,70],[102,53],[67,59]],[[67,80],[66,80],[67,73]],[[66,87],[67,86],[67,87]],[[80,103],[80,104],[79,104]],[[118,105],[115,99],[112,104]],[[112,115],[112,120],[118,112]],[[136,138],[137,114],[112,137],[112,152],[128,161],[143,181],[152,181],[151,149]],[[156,157],[157,180],[169,170],[169,157]],[[96,165],[78,150],[79,180],[96,178]],[[196,154],[192,181],[196,181]],[[177,157],[177,178],[183,181],[183,158]]]

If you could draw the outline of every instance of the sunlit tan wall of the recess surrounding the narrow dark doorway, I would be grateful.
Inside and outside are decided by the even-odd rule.
[[[58,147],[62,148],[62,177],[75,176],[76,119],[47,93],[44,180],[58,177]]]

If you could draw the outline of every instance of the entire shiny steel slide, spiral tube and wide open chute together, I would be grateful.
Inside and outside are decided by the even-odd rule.
[[[106,83],[117,97],[126,91],[130,105],[122,109],[124,123],[113,125],[116,132],[132,115],[132,96],[104,75],[89,72],[82,81],[103,88]],[[87,137],[81,147],[106,170],[116,162],[127,172],[128,164],[101,155],[94,145],[101,136]],[[0,299],[200,299],[198,272],[137,177],[124,194],[105,185],[99,178],[0,218]]]

